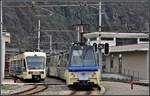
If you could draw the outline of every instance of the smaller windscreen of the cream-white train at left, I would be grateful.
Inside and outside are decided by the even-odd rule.
[[[28,69],[44,69],[45,57],[29,56],[26,58]]]

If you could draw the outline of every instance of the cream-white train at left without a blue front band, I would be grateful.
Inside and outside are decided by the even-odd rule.
[[[43,81],[46,78],[46,53],[24,52],[10,59],[9,73],[23,80]]]

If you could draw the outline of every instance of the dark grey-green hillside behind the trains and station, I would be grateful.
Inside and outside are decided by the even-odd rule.
[[[103,3],[102,31],[144,32],[148,31],[148,3]],[[73,24],[89,24],[88,31],[98,31],[98,6],[51,7],[52,16],[39,7],[4,8],[4,29],[11,34],[8,47],[27,50],[37,48],[38,19],[42,30],[74,30]],[[76,41],[74,32],[49,32],[53,37],[53,48],[66,49]],[[49,34],[41,32],[41,48],[49,49]],[[56,45],[57,43],[57,45]]]

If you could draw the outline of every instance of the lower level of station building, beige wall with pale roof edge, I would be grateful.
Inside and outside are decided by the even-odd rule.
[[[149,78],[149,44],[110,47],[109,56],[103,57],[103,71],[133,76],[137,80]]]

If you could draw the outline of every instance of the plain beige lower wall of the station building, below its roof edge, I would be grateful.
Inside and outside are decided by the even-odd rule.
[[[110,56],[106,59],[107,72],[119,72],[120,53],[112,53],[114,56],[113,68],[110,68]],[[123,52],[122,54],[122,74],[133,75],[140,80],[149,80],[149,56],[148,52]]]

